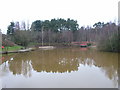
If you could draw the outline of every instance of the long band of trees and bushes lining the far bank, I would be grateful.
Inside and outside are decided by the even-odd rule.
[[[11,22],[8,26],[8,38],[18,45],[27,47],[30,43],[71,43],[93,41],[99,50],[118,51],[119,25],[113,22],[97,22],[93,27],[80,27],[76,20],[51,19],[36,20],[29,23]],[[120,49],[119,49],[120,50]]]

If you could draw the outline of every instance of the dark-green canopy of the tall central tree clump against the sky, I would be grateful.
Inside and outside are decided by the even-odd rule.
[[[36,20],[32,23],[31,25],[31,30],[33,31],[41,31],[42,27],[44,27],[44,30],[51,30],[53,32],[59,32],[63,30],[71,30],[75,31],[78,30],[78,24],[77,21],[68,18],[67,20],[65,19],[51,19],[41,21],[41,20]]]

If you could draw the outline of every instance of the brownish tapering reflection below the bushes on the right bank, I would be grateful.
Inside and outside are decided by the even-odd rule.
[[[101,58],[98,58],[101,57]],[[99,66],[109,79],[113,80],[115,86],[118,83],[118,54],[117,53],[97,53],[95,55],[96,66]]]

